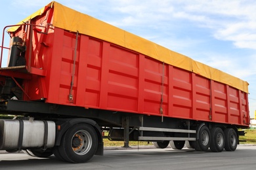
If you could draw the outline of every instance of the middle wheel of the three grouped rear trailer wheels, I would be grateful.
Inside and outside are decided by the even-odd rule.
[[[223,129],[220,127],[213,127],[211,129],[211,144],[212,152],[222,152],[225,146],[225,137]]]

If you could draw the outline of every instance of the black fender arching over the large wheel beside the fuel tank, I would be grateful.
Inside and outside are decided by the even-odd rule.
[[[56,122],[56,126],[60,126],[60,129],[56,127],[56,139],[55,139],[55,146],[60,145],[60,141],[62,139],[62,136],[70,127],[74,126],[75,124],[89,124],[95,129],[97,137],[98,137],[98,147],[96,150],[96,155],[103,155],[103,150],[104,150],[104,145],[103,145],[103,139],[102,139],[102,134],[100,130],[100,126],[91,119],[88,118],[70,118],[70,119],[62,119],[58,120]]]

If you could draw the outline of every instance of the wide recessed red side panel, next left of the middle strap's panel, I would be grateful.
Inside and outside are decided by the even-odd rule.
[[[138,110],[139,54],[110,45],[108,109]]]

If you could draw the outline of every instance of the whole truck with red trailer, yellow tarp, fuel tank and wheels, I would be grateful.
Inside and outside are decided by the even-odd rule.
[[[234,151],[249,127],[246,81],[56,1],[3,29],[0,65],[7,152],[81,163],[104,138]]]

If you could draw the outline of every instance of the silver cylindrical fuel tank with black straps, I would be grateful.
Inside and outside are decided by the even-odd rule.
[[[55,133],[53,121],[0,120],[0,150],[51,148]]]

